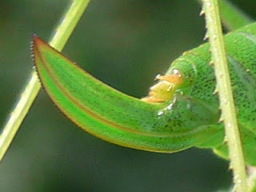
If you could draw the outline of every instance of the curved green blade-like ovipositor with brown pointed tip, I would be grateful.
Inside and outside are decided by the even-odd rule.
[[[193,98],[178,94],[167,102],[144,102],[99,82],[36,36],[33,51],[50,98],[72,122],[98,138],[135,149],[174,152],[217,132],[205,126],[216,123],[218,116]]]

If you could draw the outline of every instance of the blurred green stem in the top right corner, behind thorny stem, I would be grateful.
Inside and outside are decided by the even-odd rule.
[[[222,14],[222,23],[228,30],[236,30],[254,22],[248,15],[239,10],[232,3],[222,0],[219,2]]]

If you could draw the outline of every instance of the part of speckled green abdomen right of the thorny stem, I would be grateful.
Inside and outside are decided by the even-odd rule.
[[[246,162],[256,165],[256,25],[240,29],[227,38],[230,74]],[[219,146],[218,154],[226,154]]]

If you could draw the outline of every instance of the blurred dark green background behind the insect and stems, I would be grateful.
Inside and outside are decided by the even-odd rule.
[[[256,2],[234,1],[255,18]],[[50,39],[67,0],[0,1],[0,125],[25,86],[33,33]],[[204,20],[191,0],[92,0],[63,50],[95,77],[136,97],[154,76],[202,43]],[[216,191],[228,163],[210,150],[156,154],[94,138],[40,91],[0,164],[0,191]]]

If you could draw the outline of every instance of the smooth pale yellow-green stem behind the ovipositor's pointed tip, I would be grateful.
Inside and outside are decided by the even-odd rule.
[[[69,9],[62,18],[62,22],[55,30],[53,38],[50,40],[50,46],[53,46],[57,50],[62,50],[89,2],[90,0],[74,0],[71,3]],[[4,154],[6,154],[6,150],[9,148],[23,119],[30,110],[30,106],[38,95],[40,88],[41,84],[38,80],[38,75],[35,70],[33,70],[29,82],[23,90],[17,105],[11,112],[10,118],[6,122],[6,126],[4,126],[2,130],[0,136],[0,162]]]

